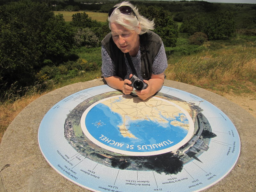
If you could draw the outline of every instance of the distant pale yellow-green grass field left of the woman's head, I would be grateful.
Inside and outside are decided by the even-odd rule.
[[[54,11],[54,14],[62,14],[65,21],[71,21],[72,15],[76,13],[83,13],[84,11]],[[97,20],[100,22],[106,22],[108,19],[108,13],[100,13],[100,12],[85,12],[88,14],[92,20]]]

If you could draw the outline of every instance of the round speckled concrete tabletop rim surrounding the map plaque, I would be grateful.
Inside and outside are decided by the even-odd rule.
[[[75,92],[102,84],[102,79],[95,79],[54,90],[30,103],[15,117],[0,145],[0,192],[89,191],[62,177],[46,162],[38,146],[37,134],[41,120],[54,104]],[[164,85],[209,101],[231,119],[239,133],[241,153],[236,166],[224,179],[204,191],[256,191],[256,119],[215,93],[170,80],[165,80]]]

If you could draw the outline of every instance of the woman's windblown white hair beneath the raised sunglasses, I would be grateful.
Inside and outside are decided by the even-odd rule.
[[[138,17],[138,19],[134,14],[125,15],[121,13],[120,10],[118,9],[118,7],[121,7],[121,6],[131,7],[134,13],[136,14],[136,16]],[[151,30],[154,29],[154,25],[155,25],[154,20],[150,21],[145,17],[141,16],[140,13],[138,12],[138,9],[134,5],[132,5],[130,2],[124,1],[120,4],[116,4],[114,7],[116,7],[116,9],[112,12],[110,17],[108,17],[108,22],[109,22],[108,25],[110,30],[111,30],[110,24],[114,22],[124,26],[127,29],[135,30],[137,32],[139,30],[138,26],[140,26],[141,27],[140,35],[142,35],[143,33],[146,33],[149,29]]]

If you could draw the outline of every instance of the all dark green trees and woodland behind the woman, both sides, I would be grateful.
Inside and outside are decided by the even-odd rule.
[[[6,90],[68,79],[101,65],[100,41],[110,32],[107,22],[76,13],[67,23],[53,10],[108,12],[121,1],[20,0],[1,1],[0,98]],[[180,33],[188,34],[193,50],[207,39],[228,39],[236,31],[256,35],[255,4],[217,4],[205,1],[131,1],[140,14],[154,19],[154,31],[165,47],[175,47]],[[79,9],[78,9],[78,8]],[[74,10],[73,10],[74,11]],[[180,27],[178,27],[178,24]],[[98,60],[79,58],[77,52],[97,50]]]

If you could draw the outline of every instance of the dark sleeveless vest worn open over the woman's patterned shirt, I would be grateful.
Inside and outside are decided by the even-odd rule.
[[[114,61],[116,76],[124,79],[127,73],[124,53],[114,43],[111,33],[101,41],[101,44],[108,52],[110,58]],[[154,62],[161,45],[162,39],[152,31],[140,35],[141,76],[145,80],[148,80],[151,77],[152,63]]]

